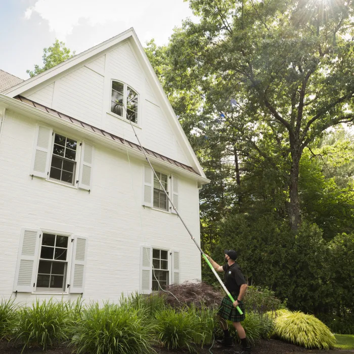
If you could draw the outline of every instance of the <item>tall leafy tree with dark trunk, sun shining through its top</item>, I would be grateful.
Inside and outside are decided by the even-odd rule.
[[[191,0],[190,6],[200,21],[185,21],[167,50],[174,83],[199,93],[209,113],[223,114],[233,137],[279,170],[295,231],[303,150],[329,127],[354,120],[353,2]]]

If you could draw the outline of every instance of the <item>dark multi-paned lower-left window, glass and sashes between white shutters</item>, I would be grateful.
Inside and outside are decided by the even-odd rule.
[[[43,233],[36,291],[66,291],[69,237]]]

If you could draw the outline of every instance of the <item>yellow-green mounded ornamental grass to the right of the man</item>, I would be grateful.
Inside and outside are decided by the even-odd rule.
[[[313,315],[283,310],[275,323],[277,337],[307,349],[329,349],[336,343],[331,330]]]

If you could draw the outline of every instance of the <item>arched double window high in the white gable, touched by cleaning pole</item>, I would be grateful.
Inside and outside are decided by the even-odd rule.
[[[112,81],[111,112],[138,123],[138,93],[126,83]]]

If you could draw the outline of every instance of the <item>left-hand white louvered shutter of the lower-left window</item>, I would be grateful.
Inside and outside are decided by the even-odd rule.
[[[36,278],[40,231],[21,230],[20,248],[17,257],[14,291],[31,292]]]

